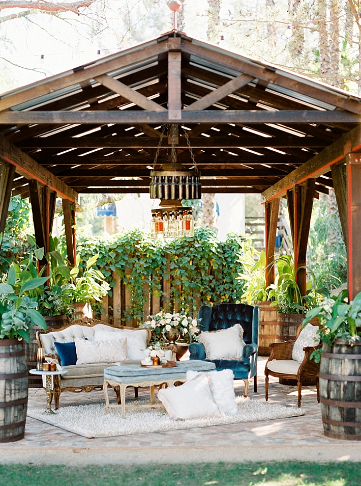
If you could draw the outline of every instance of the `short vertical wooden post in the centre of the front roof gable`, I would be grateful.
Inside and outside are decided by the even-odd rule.
[[[168,118],[182,119],[181,100],[181,39],[169,39],[168,52]]]

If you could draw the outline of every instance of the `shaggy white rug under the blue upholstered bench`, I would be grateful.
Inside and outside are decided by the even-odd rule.
[[[172,420],[163,408],[134,409],[122,418],[121,409],[110,409],[105,415],[105,405],[96,403],[78,407],[62,407],[54,415],[44,414],[43,410],[28,410],[29,417],[63,428],[88,439],[113,437],[128,434],[144,434],[164,430],[209,427],[238,422],[275,420],[304,415],[302,409],[285,407],[250,398],[237,397],[238,413],[224,417],[204,417],[191,420]]]

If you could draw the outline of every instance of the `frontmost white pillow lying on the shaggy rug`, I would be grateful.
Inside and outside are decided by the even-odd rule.
[[[172,419],[220,417],[221,411],[210,391],[210,377],[203,373],[179,387],[161,388],[158,398]]]

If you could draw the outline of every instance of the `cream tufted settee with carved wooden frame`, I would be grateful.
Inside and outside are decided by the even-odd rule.
[[[121,328],[115,328],[110,324],[102,322],[96,319],[81,319],[76,320],[64,326],[61,329],[37,332],[37,342],[39,347],[43,347],[45,356],[51,356],[58,358],[55,348],[55,342],[74,342],[75,338],[84,339],[89,341],[94,340],[95,331],[102,330],[106,332],[121,332],[122,334],[129,335],[129,333],[139,333],[139,338],[136,343],[139,343],[138,353],[135,350],[135,354],[139,355],[139,350],[142,350],[151,340],[151,331],[143,328],[129,328],[122,326]],[[138,337],[137,335],[137,337]],[[134,341],[134,339],[133,339]],[[133,349],[134,352],[134,349]],[[133,353],[134,354],[134,353]],[[129,355],[128,355],[129,356]],[[144,355],[145,357],[145,355]],[[171,358],[170,358],[171,359]],[[103,389],[103,373],[104,368],[108,366],[119,366],[128,364],[140,364],[140,359],[129,360],[116,363],[95,363],[95,364],[75,364],[67,365],[67,373],[64,375],[54,376],[52,386],[52,396],[54,397],[55,410],[59,408],[59,397],[64,391],[90,392],[92,390]],[[120,402],[119,391],[116,389],[117,400]],[[138,389],[135,389],[135,396],[138,396]]]

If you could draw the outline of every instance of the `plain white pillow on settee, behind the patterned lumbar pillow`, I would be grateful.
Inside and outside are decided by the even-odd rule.
[[[131,331],[130,329],[119,329],[117,331],[96,330],[94,341],[111,341],[113,339],[127,338],[128,358],[132,361],[141,361],[145,359],[144,350],[146,349],[146,340],[148,332],[146,329]]]

